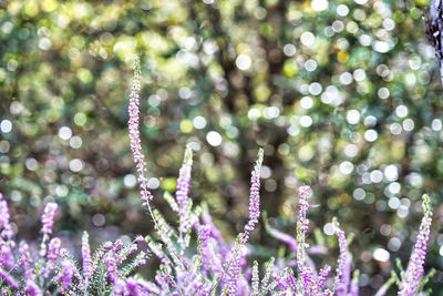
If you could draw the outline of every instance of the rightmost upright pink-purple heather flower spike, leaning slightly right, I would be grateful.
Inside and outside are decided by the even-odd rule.
[[[420,224],[419,235],[416,236],[414,249],[409,259],[406,273],[404,274],[404,278],[400,284],[399,295],[401,296],[414,295],[424,274],[424,261],[426,257],[427,242],[431,233],[432,211],[430,197],[425,194],[422,198],[424,216]]]

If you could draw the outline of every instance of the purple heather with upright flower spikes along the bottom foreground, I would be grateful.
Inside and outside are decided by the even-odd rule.
[[[163,198],[178,216],[178,226],[172,226],[152,206],[154,200],[146,174],[146,161],[140,137],[140,60],[135,71],[128,104],[130,145],[135,162],[140,194],[154,223],[155,233],[137,236],[133,242],[105,242],[92,255],[89,234],[83,233],[81,258],[76,262],[61,239],[51,237],[58,205],[48,203],[41,216],[40,249],[31,249],[25,242],[13,238],[7,201],[0,194],[0,292],[1,295],[359,295],[359,272],[352,274],[351,236],[332,221],[338,239],[339,256],[336,266],[317,268],[312,256],[327,254],[328,248],[310,246],[309,197],[312,191],[298,191],[299,217],[296,237],[272,228],[262,215],[267,232],[292,251],[260,266],[250,265],[249,238],[260,217],[260,169],[264,151],[258,151],[251,172],[249,214],[244,231],[234,242],[227,242],[215,226],[205,205],[193,206],[189,197],[193,151],[185,150],[178,172],[175,197],[165,192]],[[385,295],[392,285],[398,295],[429,295],[424,285],[433,275],[424,275],[424,263],[430,241],[432,211],[430,197],[423,195],[423,218],[406,271],[398,262],[400,275],[391,278],[377,292]],[[148,249],[141,249],[146,242]],[[196,246],[196,247],[195,247]],[[146,264],[147,253],[159,261],[154,278],[144,278],[136,268]]]

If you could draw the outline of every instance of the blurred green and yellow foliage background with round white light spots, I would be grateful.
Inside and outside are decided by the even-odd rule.
[[[78,242],[83,228],[97,242],[151,231],[126,132],[138,53],[143,146],[157,196],[174,191],[192,143],[192,197],[233,236],[247,217],[262,146],[270,224],[293,234],[296,188],[311,185],[313,227],[331,246],[332,216],[356,234],[356,267],[371,295],[389,261],[409,256],[427,192],[435,211],[427,266],[439,269],[439,290],[443,103],[426,4],[0,1],[0,190],[17,227],[28,229],[19,235],[37,237],[35,215],[49,201],[64,207],[59,231]],[[254,235],[276,253],[264,228]]]

